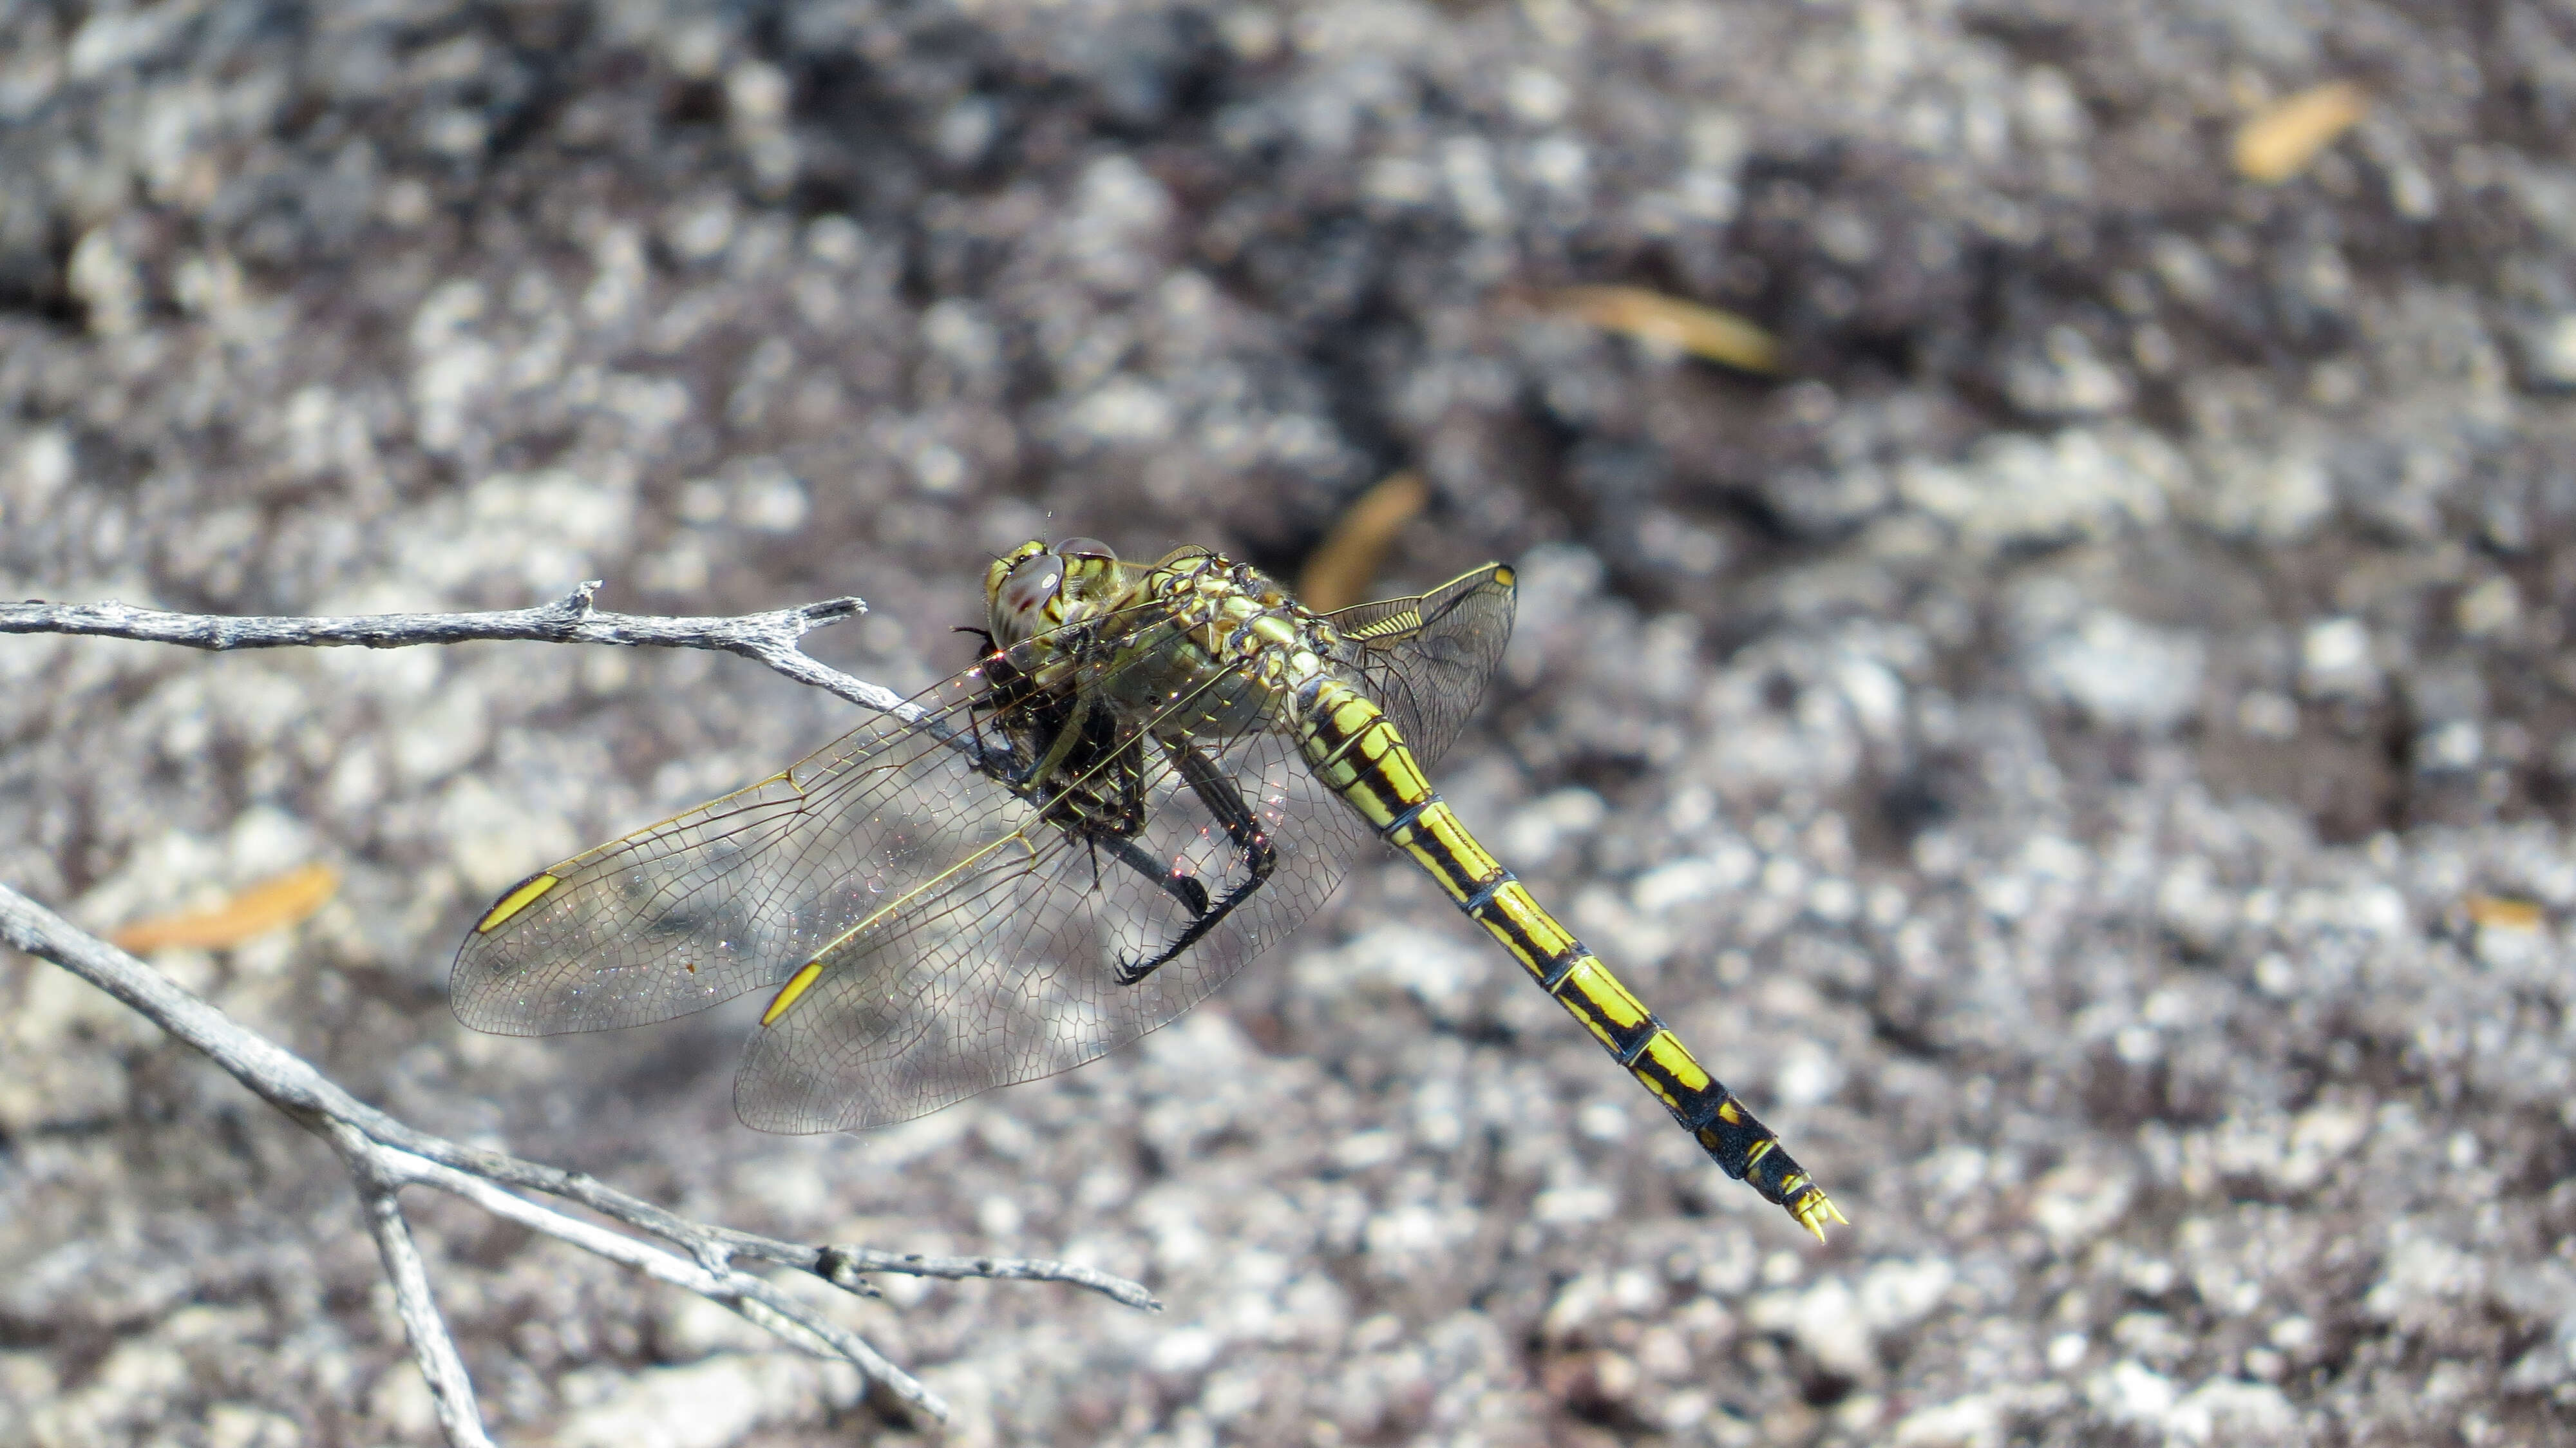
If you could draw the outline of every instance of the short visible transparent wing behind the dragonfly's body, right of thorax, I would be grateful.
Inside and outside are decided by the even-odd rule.
[[[1368,680],[1425,768],[1458,742],[1458,729],[1502,667],[1515,587],[1510,564],[1484,564],[1417,598],[1327,613],[1350,642],[1342,662]]]

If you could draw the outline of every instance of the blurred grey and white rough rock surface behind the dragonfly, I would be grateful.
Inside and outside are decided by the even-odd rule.
[[[0,639],[0,879],[422,1126],[1170,1304],[840,1304],[958,1443],[2576,1435],[2576,10],[2555,0],[0,8],[0,593],[863,593],[994,549],[1525,564],[1463,814],[1850,1211],[1718,1175],[1396,863],[1095,1067],[850,1139],[737,1013],[446,1010],[523,871],[829,739],[750,662]],[[2282,186],[2282,95],[2370,116]],[[1762,379],[1602,335],[1628,283]],[[422,1443],[330,1157],[0,961],[0,1440]],[[497,1430],[920,1440],[415,1198]]]

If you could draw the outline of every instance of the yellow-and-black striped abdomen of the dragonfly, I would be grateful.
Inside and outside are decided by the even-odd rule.
[[[1316,778],[1347,799],[1388,845],[1430,871],[1458,910],[1502,940],[1530,979],[1582,1020],[1728,1177],[1749,1180],[1819,1239],[1826,1221],[1844,1221],[1824,1188],[1780,1149],[1780,1136],[1754,1121],[1754,1113],[1690,1056],[1680,1036],[1628,995],[1610,966],[1584,951],[1582,940],[1468,835],[1448,801],[1432,794],[1422,765],[1376,703],[1340,680],[1321,680],[1298,721],[1298,747]]]

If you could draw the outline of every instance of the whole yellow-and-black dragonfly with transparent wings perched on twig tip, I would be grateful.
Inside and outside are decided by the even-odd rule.
[[[456,1015],[549,1036],[768,992],[742,1121],[886,1126],[1170,1023],[1394,848],[1728,1177],[1847,1221],[1430,786],[1512,634],[1507,564],[1316,613],[1208,549],[1064,538],[984,600],[976,665],[902,711],[510,886]]]

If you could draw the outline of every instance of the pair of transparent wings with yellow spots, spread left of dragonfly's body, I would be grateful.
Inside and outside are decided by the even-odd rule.
[[[456,956],[459,1018],[502,1033],[639,1025],[819,964],[755,1031],[734,1103],[765,1131],[884,1126],[1172,1020],[1311,915],[1370,840],[1270,732],[1198,739],[1195,786],[1144,742],[1144,832],[1084,840],[953,745],[989,703],[981,670],[917,703],[922,721],[871,721],[502,897]],[[1121,984],[1190,930],[1193,902],[1226,902],[1255,873],[1242,824],[1206,804],[1211,781],[1275,850],[1267,881]]]

